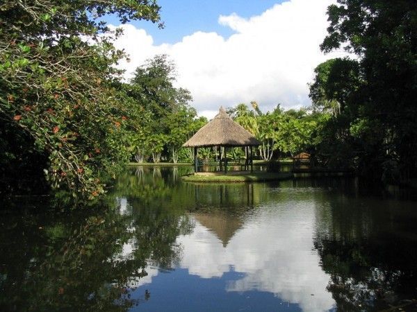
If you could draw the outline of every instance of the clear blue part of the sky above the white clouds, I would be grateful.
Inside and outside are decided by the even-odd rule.
[[[156,24],[148,21],[134,21],[131,24],[143,28],[152,35],[154,44],[181,41],[182,37],[195,31],[218,33],[229,37],[234,33],[230,28],[218,24],[220,15],[236,13],[240,17],[249,18],[259,15],[276,3],[284,0],[158,0],[162,7],[161,17],[165,28],[158,29]],[[116,19],[108,19],[118,24]]]

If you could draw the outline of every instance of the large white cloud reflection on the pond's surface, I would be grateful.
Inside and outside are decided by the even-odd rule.
[[[305,311],[326,311],[332,309],[334,300],[326,291],[329,275],[312,251],[314,222],[311,202],[262,207],[226,248],[196,222],[192,234],[177,240],[183,245],[180,266],[204,278],[221,277],[231,270],[244,272],[245,277],[231,281],[227,291],[267,291],[300,304]]]

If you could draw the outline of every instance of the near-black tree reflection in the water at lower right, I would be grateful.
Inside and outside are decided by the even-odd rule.
[[[347,207],[345,202],[349,202]],[[417,297],[416,212],[407,203],[331,201],[317,211],[314,245],[339,311],[378,311]],[[407,222],[407,218],[410,218]]]

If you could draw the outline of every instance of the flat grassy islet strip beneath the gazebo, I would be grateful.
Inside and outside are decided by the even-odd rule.
[[[293,173],[287,172],[253,172],[234,171],[229,173],[197,173],[183,175],[181,179],[186,182],[256,182],[291,179]]]

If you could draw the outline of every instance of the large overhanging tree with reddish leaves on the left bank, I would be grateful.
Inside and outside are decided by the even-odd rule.
[[[101,17],[158,22],[159,9],[151,0],[0,4],[1,180],[19,180],[21,161],[40,159],[51,187],[104,191],[99,173],[113,173],[128,153],[124,93],[114,87],[123,54]]]

